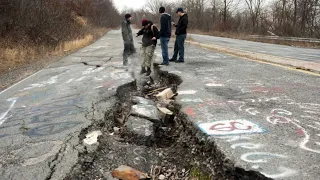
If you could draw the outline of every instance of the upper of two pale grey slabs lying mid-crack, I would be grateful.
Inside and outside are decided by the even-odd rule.
[[[158,108],[153,105],[133,105],[131,109],[131,114],[149,120],[160,121]]]

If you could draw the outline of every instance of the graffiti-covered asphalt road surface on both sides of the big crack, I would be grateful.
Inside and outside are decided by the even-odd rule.
[[[65,177],[84,151],[80,131],[133,81],[122,48],[120,31],[111,31],[0,92],[1,179]],[[319,76],[196,46],[185,64],[162,70],[183,79],[177,101],[188,120],[237,167],[279,179],[320,176]]]

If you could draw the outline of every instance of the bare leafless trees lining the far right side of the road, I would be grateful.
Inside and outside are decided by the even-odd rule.
[[[148,0],[134,11],[137,22],[143,16],[159,21],[161,6],[174,19],[176,8],[183,7],[190,29],[320,38],[319,0]]]

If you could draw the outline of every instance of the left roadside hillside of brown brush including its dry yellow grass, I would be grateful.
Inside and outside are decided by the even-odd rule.
[[[0,74],[86,46],[120,21],[112,0],[1,0]]]

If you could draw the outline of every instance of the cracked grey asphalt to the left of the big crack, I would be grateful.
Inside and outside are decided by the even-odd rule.
[[[119,34],[0,93],[0,179],[63,179],[70,171],[83,151],[80,131],[104,118],[116,89],[133,81],[122,66]]]

